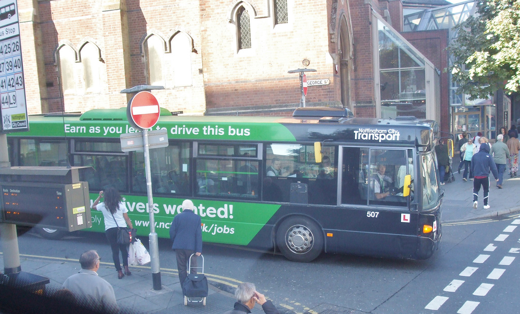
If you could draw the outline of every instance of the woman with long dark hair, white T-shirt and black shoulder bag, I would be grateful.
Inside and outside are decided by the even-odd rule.
[[[105,202],[98,204],[103,196],[105,197]],[[121,202],[121,194],[113,187],[108,188],[106,191],[100,191],[99,197],[92,204],[92,209],[102,212],[105,218],[105,234],[107,235],[108,243],[110,243],[110,248],[112,248],[112,259],[114,260],[115,270],[118,271],[118,278],[121,279],[125,275],[130,276],[132,273],[128,269],[128,245],[119,244],[117,239],[118,227],[134,227],[128,217],[126,206]],[[123,257],[123,267],[125,268],[124,274],[119,264],[120,251]]]

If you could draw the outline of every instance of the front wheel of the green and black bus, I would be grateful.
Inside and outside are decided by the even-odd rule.
[[[276,243],[289,260],[307,263],[323,251],[323,232],[307,217],[291,217],[278,227]]]

